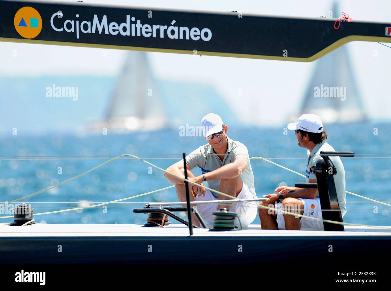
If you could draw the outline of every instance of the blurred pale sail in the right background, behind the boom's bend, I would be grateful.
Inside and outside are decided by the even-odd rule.
[[[332,11],[334,18],[341,15],[336,2]],[[365,120],[366,113],[346,45],[315,62],[300,115],[313,113],[328,123]]]

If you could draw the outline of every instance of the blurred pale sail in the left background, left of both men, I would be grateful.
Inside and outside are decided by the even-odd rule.
[[[129,51],[106,111],[106,127],[116,131],[157,130],[168,126],[163,95],[147,53]]]

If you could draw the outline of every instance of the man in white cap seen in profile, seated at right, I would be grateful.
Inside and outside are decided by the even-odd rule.
[[[323,129],[322,121],[315,114],[303,114],[299,120],[288,124],[288,129],[295,130],[299,146],[307,148],[308,162],[305,171],[306,182],[316,183],[316,175],[311,172],[312,166],[321,158],[321,151],[334,151],[326,143],[327,134]],[[338,204],[342,216],[346,213],[345,170],[339,157],[330,157],[337,173],[334,175],[335,189],[337,190]],[[282,214],[279,209],[303,214],[305,216],[322,219],[322,211],[317,189],[282,186],[274,190],[275,194],[264,195],[269,198],[263,205],[274,207],[277,211],[259,209],[262,229],[289,229],[301,228],[324,230],[323,222],[309,218],[298,218],[290,214]],[[277,212],[277,213],[276,213]]]

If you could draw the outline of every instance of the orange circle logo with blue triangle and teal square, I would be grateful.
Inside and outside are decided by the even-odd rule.
[[[16,12],[14,17],[15,29],[24,38],[38,36],[42,29],[42,18],[34,8],[26,6]]]

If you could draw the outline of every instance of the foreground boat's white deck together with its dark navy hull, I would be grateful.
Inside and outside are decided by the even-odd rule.
[[[231,264],[312,261],[314,256],[362,262],[363,257],[357,254],[370,250],[383,255],[390,245],[391,229],[364,227],[325,232],[262,230],[260,225],[249,225],[238,231],[194,229],[190,236],[181,224],[164,228],[134,224],[0,225],[2,264]]]

